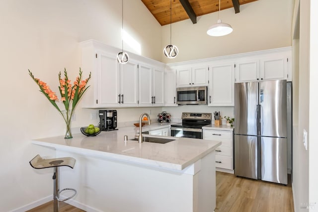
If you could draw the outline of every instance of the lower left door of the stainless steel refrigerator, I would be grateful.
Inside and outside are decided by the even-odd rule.
[[[235,135],[236,176],[257,179],[257,136]]]

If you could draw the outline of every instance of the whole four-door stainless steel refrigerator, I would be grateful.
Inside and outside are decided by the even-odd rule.
[[[235,84],[235,175],[287,184],[286,80]]]

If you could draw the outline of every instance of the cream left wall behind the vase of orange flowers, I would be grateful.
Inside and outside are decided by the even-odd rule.
[[[124,18],[141,54],[160,60],[155,49],[161,46],[161,27],[142,1],[125,0]],[[38,91],[28,69],[58,92],[59,71],[67,68],[72,80],[78,74],[80,41],[95,39],[121,48],[121,1],[1,0],[0,31],[0,211],[6,212],[52,195],[52,170],[38,172],[28,162],[38,153],[54,157],[55,151],[30,141],[65,133],[62,117]],[[89,71],[83,70],[83,76]],[[126,120],[126,110],[119,110],[120,121]],[[72,127],[89,124],[91,111],[78,107]],[[126,118],[137,120],[140,109],[130,112],[134,115]]]

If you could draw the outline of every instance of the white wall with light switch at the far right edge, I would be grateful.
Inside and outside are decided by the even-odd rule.
[[[298,23],[294,21],[294,139],[293,139],[293,194],[295,212],[318,211],[317,184],[317,8],[316,0],[296,0],[295,16],[299,6]],[[298,65],[298,66],[297,66]],[[295,96],[297,95],[298,96]],[[303,130],[308,132],[308,150],[303,145]],[[312,133],[311,133],[312,132]]]

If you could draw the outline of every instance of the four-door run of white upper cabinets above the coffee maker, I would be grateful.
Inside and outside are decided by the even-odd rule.
[[[164,64],[132,53],[128,63],[118,64],[120,50],[94,40],[81,47],[82,69],[92,73],[82,107],[164,105]]]

